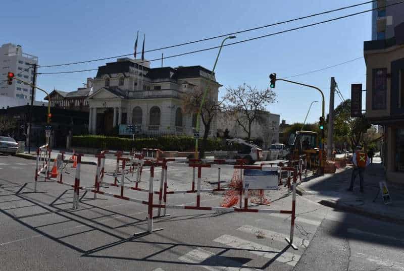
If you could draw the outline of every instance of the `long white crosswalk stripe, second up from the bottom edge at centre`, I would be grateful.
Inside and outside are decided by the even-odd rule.
[[[296,263],[300,259],[300,256],[297,254],[293,254],[286,251],[283,252],[282,254],[279,254],[281,252],[279,249],[243,240],[241,238],[237,238],[235,236],[227,234],[222,235],[213,241],[238,249],[248,249],[249,253],[263,256],[268,259],[274,258],[276,261],[286,263],[291,266],[296,265]]]

